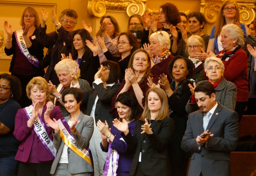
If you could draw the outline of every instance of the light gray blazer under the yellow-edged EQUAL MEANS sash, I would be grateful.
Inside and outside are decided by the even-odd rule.
[[[65,120],[68,122],[69,118],[70,115],[66,116]],[[72,134],[79,147],[87,148],[89,147],[89,142],[94,131],[94,120],[91,116],[84,115],[82,114],[82,112],[80,113],[78,120],[80,120],[80,122],[76,123],[75,125],[76,132]],[[53,161],[50,174],[54,174],[56,167],[59,163],[63,147],[65,145],[65,143],[60,138],[60,132],[56,134],[53,133],[53,144],[54,147],[58,150],[58,153]],[[70,148],[68,148],[68,169],[71,174],[78,174],[81,172],[93,172],[92,166]]]

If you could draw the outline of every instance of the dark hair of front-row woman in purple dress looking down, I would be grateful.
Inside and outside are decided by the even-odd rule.
[[[136,118],[136,116],[142,112],[142,108],[140,107],[135,95],[131,92],[123,92],[118,95],[116,102],[120,102],[131,109],[131,114],[129,117],[129,121]]]

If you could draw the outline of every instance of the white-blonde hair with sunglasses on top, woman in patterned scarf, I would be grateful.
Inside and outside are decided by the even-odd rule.
[[[156,31],[152,33],[149,37],[149,40],[151,39],[157,40],[161,46],[166,44],[165,49],[170,49],[171,47],[171,40],[169,34],[165,31]]]

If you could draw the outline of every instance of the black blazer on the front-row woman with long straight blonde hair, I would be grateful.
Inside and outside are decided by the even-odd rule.
[[[169,176],[167,145],[174,133],[174,121],[169,117],[165,117],[162,121],[153,121],[150,125],[153,134],[140,134],[141,126],[144,123],[140,120],[137,121],[133,136],[130,132],[127,136],[122,133],[128,148],[135,151],[129,175],[135,175],[141,152],[141,167],[145,175]]]

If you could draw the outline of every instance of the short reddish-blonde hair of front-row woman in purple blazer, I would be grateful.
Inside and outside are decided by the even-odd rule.
[[[27,87],[26,87],[26,93],[27,93],[27,97],[29,99],[30,98],[30,95],[31,95],[31,89],[34,87],[34,86],[37,86],[37,88],[39,90],[43,90],[44,92],[46,92],[46,101],[49,101],[50,98],[49,98],[49,95],[50,95],[50,87],[48,86],[48,83],[47,81],[42,78],[41,76],[37,76],[37,77],[33,77],[30,82],[28,82],[27,84]]]

